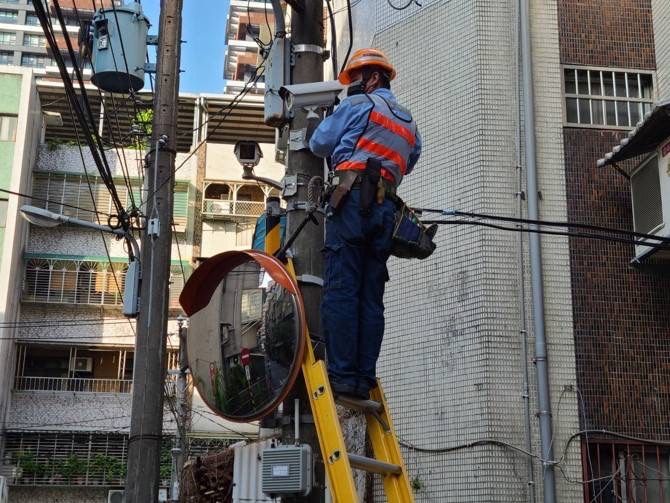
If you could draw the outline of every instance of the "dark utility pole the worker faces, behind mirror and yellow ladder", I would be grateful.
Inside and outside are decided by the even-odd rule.
[[[303,9],[293,10],[291,16],[291,42],[295,53],[291,83],[303,84],[323,80],[323,2],[302,2]],[[307,114],[304,110],[296,110],[291,122],[291,137],[303,136],[307,130]],[[300,132],[303,134],[300,134]],[[303,147],[302,149],[299,149]],[[299,150],[293,150],[296,148]],[[286,167],[287,181],[295,177],[297,192],[286,197],[288,205],[286,235],[290,236],[300,222],[305,218],[307,203],[307,183],[312,177],[323,177],[323,160],[312,154],[306,145],[292,147],[288,153]],[[300,290],[305,302],[307,325],[309,332],[321,335],[321,284],[314,279],[323,277],[323,220],[320,214],[319,225],[308,224],[302,230],[291,247],[293,264],[300,284]],[[317,354],[319,348],[317,348]],[[321,353],[323,349],[321,347]],[[299,379],[295,386],[295,394],[284,403],[284,413],[291,415],[294,398],[301,398],[300,416],[311,417],[311,408],[305,394],[304,380]],[[302,422],[302,421],[301,421]],[[293,427],[289,424],[284,431],[285,441],[293,438]],[[301,441],[312,446],[316,458],[314,489],[311,494],[301,498],[290,498],[290,501],[321,503],[325,498],[325,472],[321,459],[321,450],[313,422],[303,422],[300,427]]]

